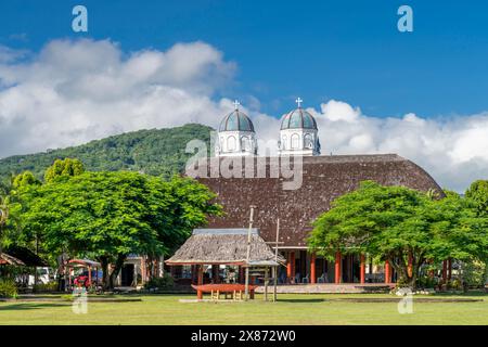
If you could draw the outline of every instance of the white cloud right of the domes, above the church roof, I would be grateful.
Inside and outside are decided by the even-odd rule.
[[[488,113],[380,118],[334,100],[320,108],[309,111],[318,121],[323,154],[397,153],[459,192],[476,179],[488,179]]]

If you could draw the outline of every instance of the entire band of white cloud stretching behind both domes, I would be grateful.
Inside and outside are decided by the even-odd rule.
[[[217,127],[233,106],[214,94],[235,68],[204,42],[126,53],[110,40],[54,40],[30,55],[0,47],[0,157],[143,128]],[[258,99],[245,98],[261,153],[275,154],[280,119],[255,111]],[[488,178],[488,113],[383,118],[335,100],[308,111],[317,117],[323,154],[398,153],[458,191]]]

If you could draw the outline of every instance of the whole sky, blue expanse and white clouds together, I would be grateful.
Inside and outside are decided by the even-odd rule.
[[[76,4],[88,33],[72,29]],[[397,29],[401,4],[413,33]],[[485,1],[0,4],[0,157],[198,121],[239,99],[261,147],[304,100],[325,154],[398,153],[445,188],[488,176]]]

